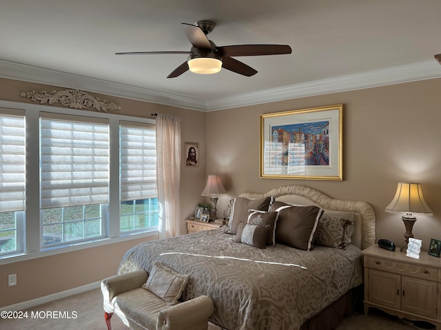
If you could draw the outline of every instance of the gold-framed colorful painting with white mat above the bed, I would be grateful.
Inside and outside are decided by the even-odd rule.
[[[342,104],[260,115],[260,177],[342,180]]]

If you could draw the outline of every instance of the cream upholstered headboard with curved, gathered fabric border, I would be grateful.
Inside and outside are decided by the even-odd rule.
[[[274,197],[277,201],[298,205],[316,205],[323,210],[353,212],[356,224],[352,243],[364,250],[375,243],[375,212],[365,201],[345,201],[332,199],[324,193],[307,186],[292,185],[274,188],[265,194],[244,192],[239,197],[263,198]]]

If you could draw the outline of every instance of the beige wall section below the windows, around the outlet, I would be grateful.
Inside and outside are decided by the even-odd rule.
[[[156,237],[0,265],[0,307],[101,281],[116,274],[125,251]],[[17,274],[17,285],[8,287],[9,274]]]

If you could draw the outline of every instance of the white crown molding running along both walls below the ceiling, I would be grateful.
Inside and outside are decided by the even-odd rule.
[[[217,111],[307,96],[441,78],[441,65],[435,60],[425,61],[207,101],[3,60],[0,60],[0,77],[82,89],[172,107],[198,111]]]

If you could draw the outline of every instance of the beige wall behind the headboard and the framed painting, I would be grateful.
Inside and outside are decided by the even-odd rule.
[[[260,114],[344,104],[344,180],[260,179]],[[424,80],[259,104],[207,113],[207,173],[223,176],[229,195],[266,192],[287,184],[314,187],[330,197],[367,201],[373,206],[377,239],[404,245],[400,216],[384,208],[398,181],[420,182],[434,217],[418,217],[416,238],[427,247],[441,239],[441,79]]]

